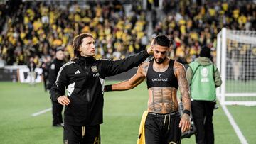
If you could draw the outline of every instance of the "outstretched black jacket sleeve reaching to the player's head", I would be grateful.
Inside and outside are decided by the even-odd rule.
[[[102,60],[102,73],[105,77],[116,75],[130,70],[132,67],[137,67],[144,62],[149,54],[146,50],[142,50],[137,55],[127,57],[123,60]]]

